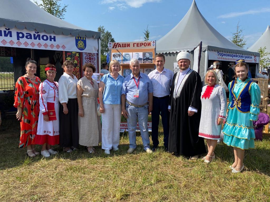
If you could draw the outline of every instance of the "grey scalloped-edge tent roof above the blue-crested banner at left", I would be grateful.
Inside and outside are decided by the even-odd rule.
[[[48,34],[64,34],[95,39],[100,38],[99,32],[85,30],[59,19],[29,0],[1,0],[0,27],[17,27],[18,29],[37,30]]]

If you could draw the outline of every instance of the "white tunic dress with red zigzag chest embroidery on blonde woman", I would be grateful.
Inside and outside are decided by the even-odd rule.
[[[218,118],[225,119],[227,109],[226,93],[222,86],[204,86],[201,92],[201,121],[199,137],[218,140],[221,133],[221,124],[218,125]]]

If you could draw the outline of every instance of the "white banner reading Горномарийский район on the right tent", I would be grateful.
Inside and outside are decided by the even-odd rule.
[[[222,53],[219,51],[209,51],[208,60],[223,60],[235,62],[239,59],[244,59],[245,62],[259,63],[259,56],[256,55],[241,55],[232,53]]]

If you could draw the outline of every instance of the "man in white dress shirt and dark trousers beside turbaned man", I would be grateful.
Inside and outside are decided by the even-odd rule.
[[[173,82],[173,72],[164,68],[165,57],[163,54],[157,54],[154,63],[156,69],[151,71],[148,76],[153,85],[153,110],[152,115],[152,141],[153,151],[156,151],[158,141],[158,124],[159,115],[161,114],[161,120],[163,125],[164,134],[164,147],[168,151],[168,138],[169,138],[169,121],[170,112],[168,111],[171,84]]]

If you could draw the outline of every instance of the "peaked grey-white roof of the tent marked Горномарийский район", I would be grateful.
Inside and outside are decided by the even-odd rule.
[[[195,0],[183,19],[157,41],[157,53],[192,51],[200,41],[203,42],[203,51],[208,49],[226,53],[251,54],[250,51],[238,47],[215,30],[201,14]]]

